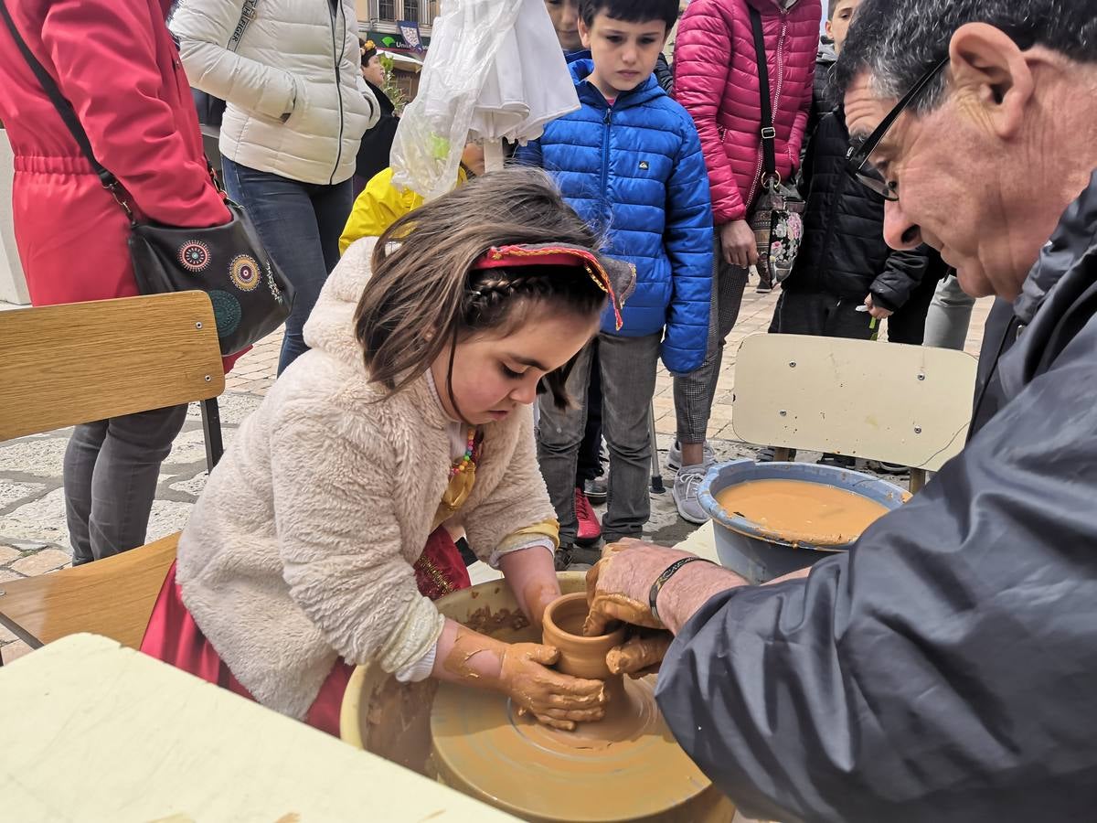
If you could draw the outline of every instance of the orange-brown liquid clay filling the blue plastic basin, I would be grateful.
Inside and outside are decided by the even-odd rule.
[[[799,480],[759,480],[728,486],[716,501],[765,531],[814,545],[856,539],[887,509],[844,488]]]

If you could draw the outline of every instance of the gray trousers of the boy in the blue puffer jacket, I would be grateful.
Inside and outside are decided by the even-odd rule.
[[[648,486],[652,446],[648,415],[655,394],[655,367],[663,335],[618,337],[599,335],[598,363],[602,377],[602,429],[610,450],[609,496],[602,537],[606,542],[638,538],[652,514]],[[548,496],[559,519],[559,542],[575,542],[575,467],[587,427],[586,396],[590,384],[590,348],[586,347],[567,379],[577,404],[558,409],[541,395],[538,461]]]

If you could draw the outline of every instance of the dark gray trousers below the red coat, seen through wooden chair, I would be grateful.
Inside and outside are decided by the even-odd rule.
[[[186,406],[77,426],[65,450],[65,515],[72,565],[145,544],[160,463]]]

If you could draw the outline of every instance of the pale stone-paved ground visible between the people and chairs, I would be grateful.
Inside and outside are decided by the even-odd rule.
[[[756,452],[753,447],[736,441],[731,427],[735,354],[744,338],[768,329],[776,301],[776,294],[756,294],[748,286],[739,320],[728,337],[709,428],[710,442],[721,460],[749,456]],[[972,353],[979,352],[988,308],[989,301],[976,304],[968,340],[968,350]],[[226,444],[233,439],[240,421],[262,402],[274,382],[281,342],[281,332],[262,340],[240,358],[228,375],[225,394],[219,401]],[[666,449],[674,437],[675,414],[670,375],[661,368],[656,381],[654,405],[658,446],[665,462]],[[61,488],[61,459],[69,432],[69,429],[60,429],[0,443],[0,590],[7,580],[46,574],[71,562]],[[669,488],[672,476],[667,472],[664,474]],[[192,406],[186,424],[160,470],[148,527],[149,542],[182,528],[205,484],[205,476],[202,422],[197,407]],[[652,496],[652,519],[648,522],[652,539],[670,545],[693,528],[678,518],[669,492]],[[4,662],[27,651],[25,643],[0,627],[0,655]]]

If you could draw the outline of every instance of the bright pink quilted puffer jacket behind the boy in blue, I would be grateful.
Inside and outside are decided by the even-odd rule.
[[[777,171],[789,179],[812,104],[819,0],[693,0],[678,25],[675,98],[693,117],[717,225],[744,219],[761,172],[758,59],[748,7],[762,14]]]

